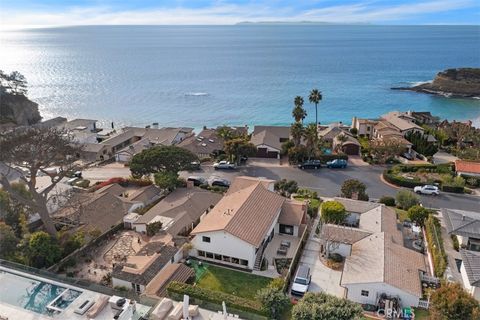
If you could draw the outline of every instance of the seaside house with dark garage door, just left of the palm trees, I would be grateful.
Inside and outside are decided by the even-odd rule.
[[[290,139],[290,127],[255,126],[250,142],[259,158],[280,158],[282,144]]]

